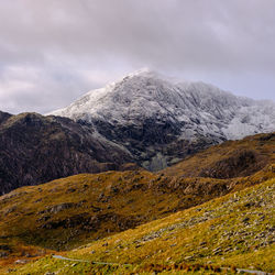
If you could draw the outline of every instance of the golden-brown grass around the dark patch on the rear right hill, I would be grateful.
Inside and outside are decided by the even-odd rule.
[[[239,176],[248,176],[267,164],[275,163],[275,133],[256,134],[240,141],[226,141],[173,165],[160,173],[169,176],[197,177],[204,172],[218,169],[222,161],[234,157],[240,152],[252,152],[256,160],[243,168]],[[221,167],[220,167],[221,168]]]

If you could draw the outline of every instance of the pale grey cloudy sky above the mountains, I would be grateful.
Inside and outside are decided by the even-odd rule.
[[[275,0],[0,0],[0,110],[46,113],[140,68],[275,101]]]

